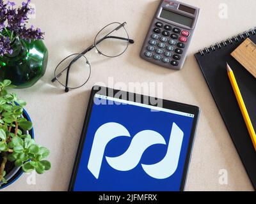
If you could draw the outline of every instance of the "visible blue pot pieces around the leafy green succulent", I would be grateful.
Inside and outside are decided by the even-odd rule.
[[[23,117],[26,118],[27,120],[29,120],[30,122],[32,122],[28,113],[26,112],[26,110],[23,110]],[[32,128],[28,132],[29,132],[29,135],[31,135],[31,137],[34,139],[35,138],[34,129]],[[10,184],[13,184],[13,182],[15,182],[15,180],[19,179],[19,177],[22,175],[22,173],[24,173],[22,171],[22,168],[20,168],[20,167],[19,168],[17,168],[17,167],[13,168],[13,170],[10,173],[8,173],[8,175],[6,175],[6,177],[8,177],[8,179],[7,179],[8,183],[7,184],[2,184],[0,189],[3,189],[4,187],[9,186]]]

